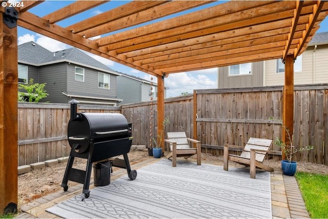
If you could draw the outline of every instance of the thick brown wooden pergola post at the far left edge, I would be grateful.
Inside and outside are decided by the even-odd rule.
[[[17,27],[0,16],[0,215],[17,211]]]

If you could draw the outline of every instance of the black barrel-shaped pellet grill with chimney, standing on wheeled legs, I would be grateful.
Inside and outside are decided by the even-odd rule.
[[[68,142],[71,152],[66,166],[63,183],[68,190],[68,181],[84,184],[83,193],[89,198],[92,163],[123,155],[124,160],[111,159],[111,165],[127,169],[134,180],[136,170],[131,170],[128,152],[132,144],[132,123],[118,113],[77,113],[76,100],[71,103],[71,119],[68,123]],[[72,168],[74,158],[88,159],[86,170]],[[109,174],[110,175],[110,174]]]

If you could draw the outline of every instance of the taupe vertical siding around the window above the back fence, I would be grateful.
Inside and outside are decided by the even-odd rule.
[[[229,76],[229,66],[218,69],[218,88],[263,86],[263,61],[252,63],[252,74]]]

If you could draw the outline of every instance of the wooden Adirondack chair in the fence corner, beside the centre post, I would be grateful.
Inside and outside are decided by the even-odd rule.
[[[186,133],[184,132],[176,132],[176,133],[168,133],[168,139],[164,141],[169,143],[170,153],[166,156],[166,158],[170,159],[172,157],[172,166],[176,166],[176,158],[177,157],[185,157],[189,158],[193,155],[197,155],[197,165],[200,165],[200,141],[187,138]],[[189,142],[191,144],[189,144]],[[196,144],[196,147],[193,145]]]

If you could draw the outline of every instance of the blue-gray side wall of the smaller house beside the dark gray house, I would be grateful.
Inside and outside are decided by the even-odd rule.
[[[117,76],[117,97],[123,99],[120,104],[141,102],[141,81],[125,76]]]

